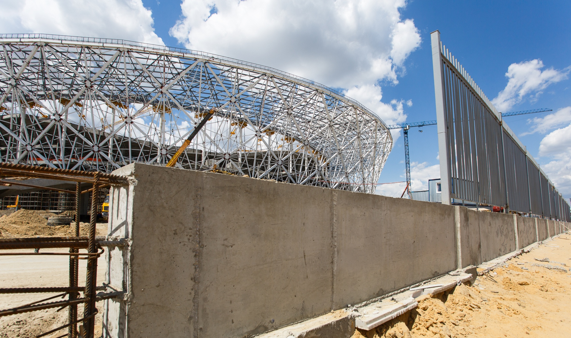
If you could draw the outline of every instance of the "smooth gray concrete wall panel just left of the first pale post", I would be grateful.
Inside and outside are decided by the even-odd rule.
[[[456,269],[452,207],[347,191],[335,194],[333,308]]]

